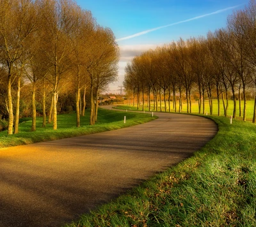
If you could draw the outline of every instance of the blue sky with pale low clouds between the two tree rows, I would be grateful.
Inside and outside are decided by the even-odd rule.
[[[77,0],[92,11],[100,26],[109,27],[120,47],[118,82],[109,92],[118,93],[124,68],[135,55],[164,43],[205,36],[226,27],[227,17],[250,0]],[[134,35],[134,36],[133,36]]]

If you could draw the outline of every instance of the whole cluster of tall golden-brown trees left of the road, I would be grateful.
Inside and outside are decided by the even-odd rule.
[[[58,96],[63,89],[76,93],[79,127],[88,88],[90,124],[95,124],[99,91],[116,80],[118,58],[111,29],[99,26],[92,13],[75,1],[1,1],[0,92],[8,112],[8,135],[13,133],[13,124],[14,133],[19,132],[20,88],[24,85],[31,87],[32,131],[36,130],[36,101],[42,102],[43,126],[49,113],[48,122],[57,129]],[[47,106],[49,97],[51,105]]]

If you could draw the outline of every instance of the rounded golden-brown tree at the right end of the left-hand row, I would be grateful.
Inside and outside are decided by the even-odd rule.
[[[116,80],[119,49],[109,28],[97,26],[86,55],[86,70],[90,77],[90,124],[97,121],[99,91]]]

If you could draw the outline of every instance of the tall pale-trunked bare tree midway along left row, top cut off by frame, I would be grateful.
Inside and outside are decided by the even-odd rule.
[[[47,57],[51,68],[48,77],[52,84],[52,128],[57,129],[57,100],[60,80],[65,73],[70,70],[69,55],[70,39],[68,31],[72,30],[74,20],[72,20],[71,0],[41,0],[40,7],[42,12],[41,42],[42,54]]]

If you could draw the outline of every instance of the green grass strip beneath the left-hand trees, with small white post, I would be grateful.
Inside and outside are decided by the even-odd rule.
[[[125,124],[124,116],[127,119]],[[7,135],[7,131],[0,132],[0,148],[100,133],[102,131],[134,126],[135,124],[148,122],[152,119],[155,118],[152,118],[149,114],[116,112],[100,108],[98,121],[94,126],[89,124],[89,112],[86,112],[86,115],[81,117],[81,128],[76,127],[76,114],[63,114],[58,115],[58,129],[56,131],[52,130],[52,124],[47,124],[45,128],[42,128],[42,117],[38,117],[36,131],[33,132],[31,131],[31,119],[20,119],[19,134]]]

